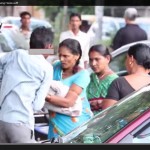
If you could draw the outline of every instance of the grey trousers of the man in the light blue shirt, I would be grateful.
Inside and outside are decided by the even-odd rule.
[[[36,143],[34,131],[25,125],[0,120],[0,143]]]

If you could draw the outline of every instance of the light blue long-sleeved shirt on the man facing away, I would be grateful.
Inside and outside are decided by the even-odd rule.
[[[51,65],[43,56],[18,49],[0,58],[0,120],[34,129],[34,110],[45,102],[52,79]],[[47,83],[45,83],[47,82]]]

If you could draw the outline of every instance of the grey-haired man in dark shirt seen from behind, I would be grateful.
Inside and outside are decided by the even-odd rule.
[[[113,50],[132,42],[147,40],[146,32],[136,24],[137,16],[138,12],[135,8],[127,8],[125,10],[124,19],[126,25],[116,33],[112,42]]]

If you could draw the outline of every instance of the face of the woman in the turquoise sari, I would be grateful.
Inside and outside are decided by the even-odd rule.
[[[60,47],[58,52],[63,69],[71,69],[75,66],[79,56],[73,55],[70,49],[65,46]]]

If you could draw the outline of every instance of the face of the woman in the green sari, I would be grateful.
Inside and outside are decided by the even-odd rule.
[[[103,72],[106,68],[108,68],[108,64],[110,62],[110,57],[104,57],[100,53],[96,51],[92,51],[89,55],[89,62],[92,70],[95,73]]]

